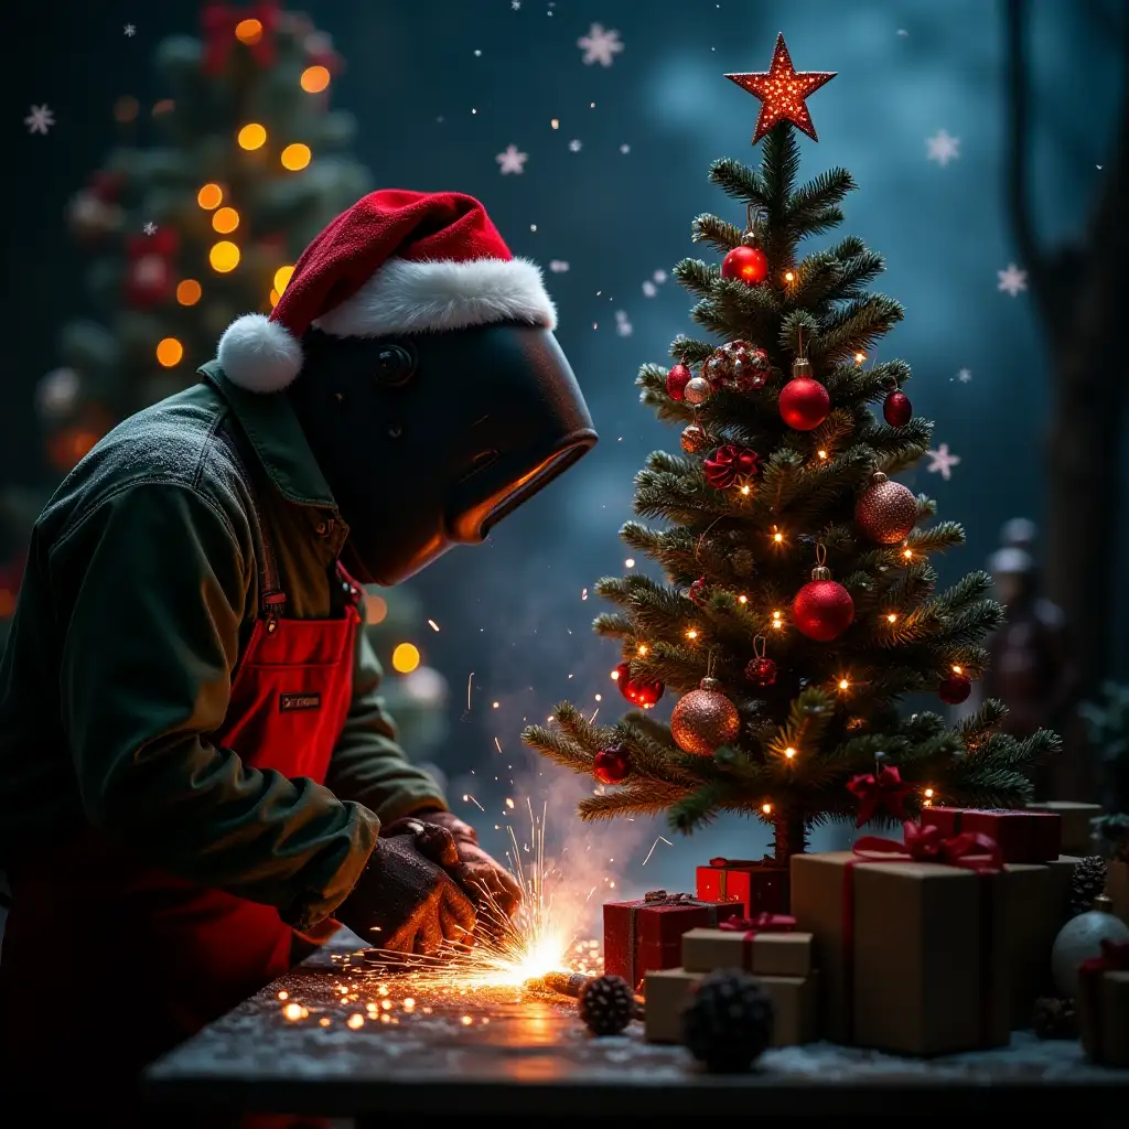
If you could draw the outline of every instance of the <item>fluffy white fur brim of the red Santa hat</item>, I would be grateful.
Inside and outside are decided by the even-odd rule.
[[[314,325],[336,338],[462,330],[497,322],[557,327],[557,308],[528,259],[392,259]]]

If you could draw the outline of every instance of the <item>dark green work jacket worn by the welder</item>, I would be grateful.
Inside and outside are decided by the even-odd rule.
[[[348,528],[286,394],[200,371],[98,443],[35,525],[0,659],[0,868],[88,822],[305,928],[352,889],[382,821],[446,803],[396,744],[362,631],[325,787],[212,742],[259,614],[246,475],[220,432],[269,480],[288,615],[333,614]]]

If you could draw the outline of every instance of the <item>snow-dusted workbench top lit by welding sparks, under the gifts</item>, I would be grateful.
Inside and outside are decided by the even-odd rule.
[[[639,1023],[623,1035],[590,1038],[575,1001],[563,997],[514,988],[405,999],[394,978],[340,945],[158,1060],[143,1084],[151,1101],[182,1109],[356,1118],[358,1127],[428,1111],[585,1118],[995,1111],[1120,1120],[1129,1110],[1129,1070],[1087,1064],[1076,1042],[1017,1032],[1009,1048],[933,1060],[814,1043],[771,1050],[745,1075],[711,1076],[681,1047],[645,1043]]]

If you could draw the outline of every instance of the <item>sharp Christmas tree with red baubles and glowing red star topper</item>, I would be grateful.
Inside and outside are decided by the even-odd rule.
[[[595,725],[562,702],[524,734],[609,786],[584,819],[666,812],[690,832],[747,813],[771,824],[778,866],[826,820],[1021,806],[1031,767],[1058,746],[1047,730],[997,732],[996,701],[956,726],[904,709],[914,693],[965,700],[1004,611],[986,572],[936,589],[931,558],[963,530],[893,478],[933,426],[902,391],[909,366],[868,360],[902,317],[867,289],[882,257],[854,236],[799,253],[842,221],[855,187],[842,168],[798,182],[796,129],[816,137],[805,98],[833,77],[796,73],[782,36],[767,73],[727,76],[762,103],[760,168],[710,168],[745,226],[699,216],[693,238],[721,261],[675,268],[716,340],[679,338],[673,368],[645,365],[636,382],[682,429],[682,452],[655,452],[636,476],[636,514],[664,524],[622,530],[666,579],[597,585],[618,611],[595,629],[620,641],[613,677],[640,709]],[[646,710],[667,693],[665,725]]]

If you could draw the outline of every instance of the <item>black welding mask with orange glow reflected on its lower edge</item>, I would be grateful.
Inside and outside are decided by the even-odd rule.
[[[345,568],[393,585],[479,544],[596,443],[552,332],[493,324],[388,338],[310,330],[288,390],[349,526]]]

